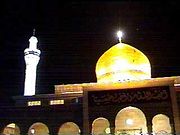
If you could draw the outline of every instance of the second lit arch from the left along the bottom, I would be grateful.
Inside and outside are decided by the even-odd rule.
[[[28,135],[49,135],[49,129],[45,124],[36,122],[29,128]]]

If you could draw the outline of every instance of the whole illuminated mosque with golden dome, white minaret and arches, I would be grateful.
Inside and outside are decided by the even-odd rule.
[[[118,35],[96,63],[97,82],[55,85],[54,94],[35,93],[40,50],[32,36],[24,96],[0,107],[1,135],[180,134],[180,77],[151,78],[147,56]]]

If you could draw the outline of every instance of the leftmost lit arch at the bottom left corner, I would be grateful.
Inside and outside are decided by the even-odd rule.
[[[20,129],[15,123],[8,124],[3,132],[3,135],[20,135]]]

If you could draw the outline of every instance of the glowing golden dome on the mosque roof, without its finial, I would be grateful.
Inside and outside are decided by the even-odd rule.
[[[107,50],[96,63],[97,82],[118,82],[151,78],[148,58],[138,49],[118,43]]]

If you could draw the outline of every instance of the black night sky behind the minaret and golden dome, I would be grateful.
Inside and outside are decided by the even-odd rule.
[[[176,1],[6,0],[1,5],[0,91],[23,95],[24,49],[36,29],[41,59],[37,93],[54,85],[95,82],[98,58],[123,41],[146,54],[152,77],[180,75],[179,13]]]

